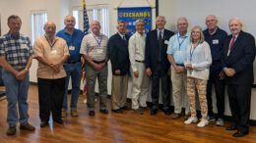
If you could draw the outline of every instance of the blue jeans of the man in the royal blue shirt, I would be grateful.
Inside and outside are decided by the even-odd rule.
[[[80,84],[81,84],[81,78],[82,78],[82,65],[81,62],[77,62],[74,64],[67,64],[65,63],[63,65],[67,76],[65,78],[65,94],[64,94],[64,100],[62,104],[62,110],[68,109],[68,85],[69,85],[69,79],[71,76],[72,81],[72,91],[71,91],[71,103],[70,108],[76,109],[78,98],[80,95]]]

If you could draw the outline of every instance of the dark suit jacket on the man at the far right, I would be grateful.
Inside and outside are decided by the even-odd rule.
[[[236,73],[232,77],[226,76],[227,84],[251,85],[253,83],[253,62],[255,59],[254,37],[240,31],[228,56],[228,47],[232,35],[224,40],[222,67],[232,68]]]

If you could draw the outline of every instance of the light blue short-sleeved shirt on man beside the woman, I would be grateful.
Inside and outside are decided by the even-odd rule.
[[[169,38],[167,54],[171,54],[175,63],[178,65],[183,65],[186,48],[189,43],[190,34],[187,32],[185,36],[180,36],[176,33],[174,36]]]

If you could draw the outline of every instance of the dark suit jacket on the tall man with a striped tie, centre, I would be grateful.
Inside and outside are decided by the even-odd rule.
[[[160,51],[158,30],[154,29],[147,34],[145,56],[146,69],[150,68],[154,72],[157,70],[157,66],[160,64],[163,70],[168,71],[170,67],[166,54],[168,45],[165,44],[164,41],[168,41],[172,35],[174,35],[174,32],[164,29]],[[158,62],[159,52],[161,52],[161,63]]]

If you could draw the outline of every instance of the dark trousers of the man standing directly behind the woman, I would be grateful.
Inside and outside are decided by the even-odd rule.
[[[224,119],[224,80],[220,79],[220,72],[210,73],[210,78],[207,83],[207,106],[208,115],[214,116],[213,112],[213,99],[212,99],[212,85],[215,85],[215,93],[217,99],[217,118]]]

